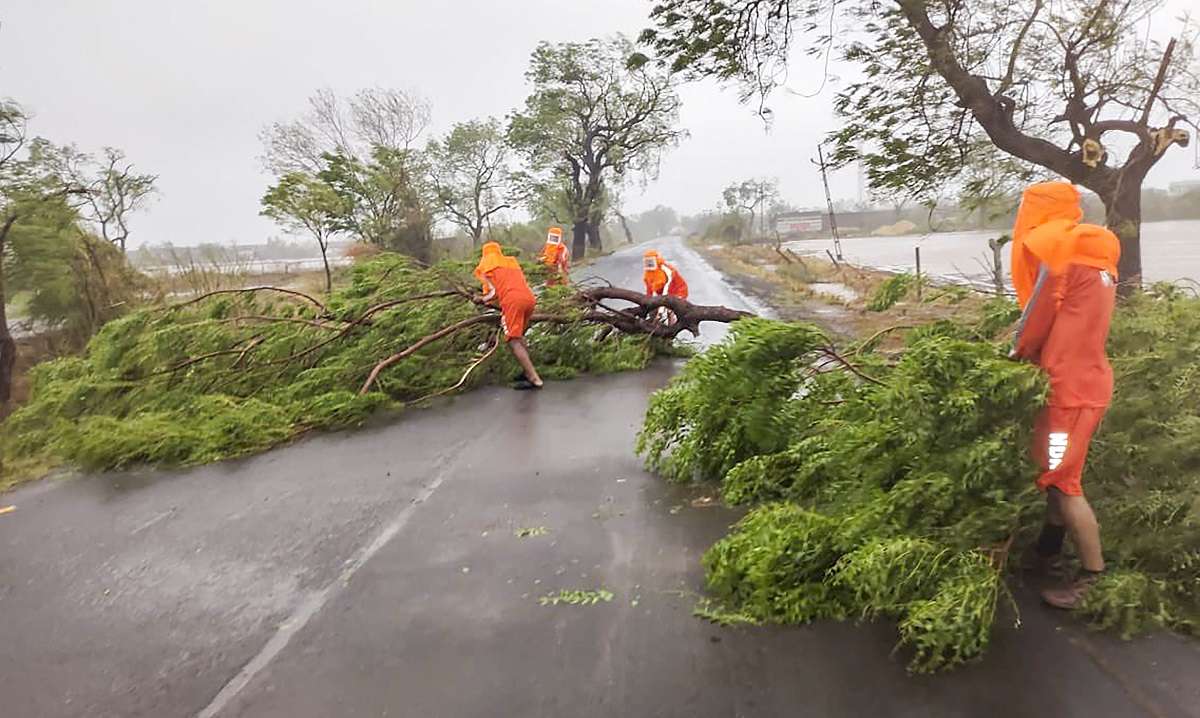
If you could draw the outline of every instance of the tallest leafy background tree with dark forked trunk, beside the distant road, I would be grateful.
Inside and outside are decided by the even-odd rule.
[[[685,132],[671,73],[629,67],[624,37],[541,43],[526,78],[533,92],[509,126],[544,185],[563,195],[572,225],[572,256],[601,249],[598,213],[606,191],[632,174],[652,176],[662,150]]]

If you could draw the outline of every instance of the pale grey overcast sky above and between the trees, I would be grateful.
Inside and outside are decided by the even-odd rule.
[[[1192,0],[1171,0],[1163,28]],[[528,94],[524,70],[540,40],[636,35],[648,0],[5,0],[0,10],[0,96],[34,114],[31,131],[96,151],[124,149],[158,175],[160,197],[134,220],[133,244],[256,244],[280,231],[258,216],[269,178],[258,131],[290,119],[322,86],[425,95],[434,133],[455,121],[504,115]],[[830,73],[836,76],[836,64]],[[797,56],[791,88],[821,83],[816,60]],[[774,176],[797,205],[823,202],[809,163],[835,125],[833,86],[816,98],[780,92],[764,131],[752,108],[714,84],[682,91],[691,133],[656,181],[625,192],[636,213],[667,204],[715,207],[736,179]],[[1198,179],[1194,152],[1174,150],[1152,186]],[[854,199],[853,170],[833,180]]]

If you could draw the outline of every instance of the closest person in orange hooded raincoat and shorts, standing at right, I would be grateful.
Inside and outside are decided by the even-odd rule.
[[[1079,191],[1068,183],[1028,187],[1013,228],[1013,287],[1022,309],[1013,357],[1042,367],[1050,396],[1034,431],[1046,493],[1046,520],[1036,546],[1039,568],[1057,561],[1070,533],[1081,572],[1042,598],[1079,608],[1104,572],[1100,529],[1084,497],[1082,475],[1092,433],[1112,397],[1105,343],[1116,304],[1121,243],[1094,225],[1080,223]]]

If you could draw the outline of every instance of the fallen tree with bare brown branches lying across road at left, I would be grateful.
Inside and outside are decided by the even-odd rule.
[[[5,466],[200,463],[505,382],[517,367],[497,351],[499,313],[472,300],[469,282],[469,264],[391,255],[355,267],[328,298],[263,286],[134,312],[83,357],[34,370],[31,401],[0,425]],[[661,307],[678,321],[658,322]],[[643,367],[680,331],[743,316],[617,287],[554,287],[529,341],[544,376],[568,378]]]

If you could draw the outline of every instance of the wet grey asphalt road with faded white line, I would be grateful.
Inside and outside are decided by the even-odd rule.
[[[637,287],[642,249],[581,274]],[[738,301],[662,249],[696,301]],[[932,678],[905,674],[888,626],[692,617],[700,555],[737,516],[634,456],[671,371],[5,495],[0,716],[1200,716],[1195,644],[1124,644],[1037,605]],[[539,603],[601,588],[611,603]]]

